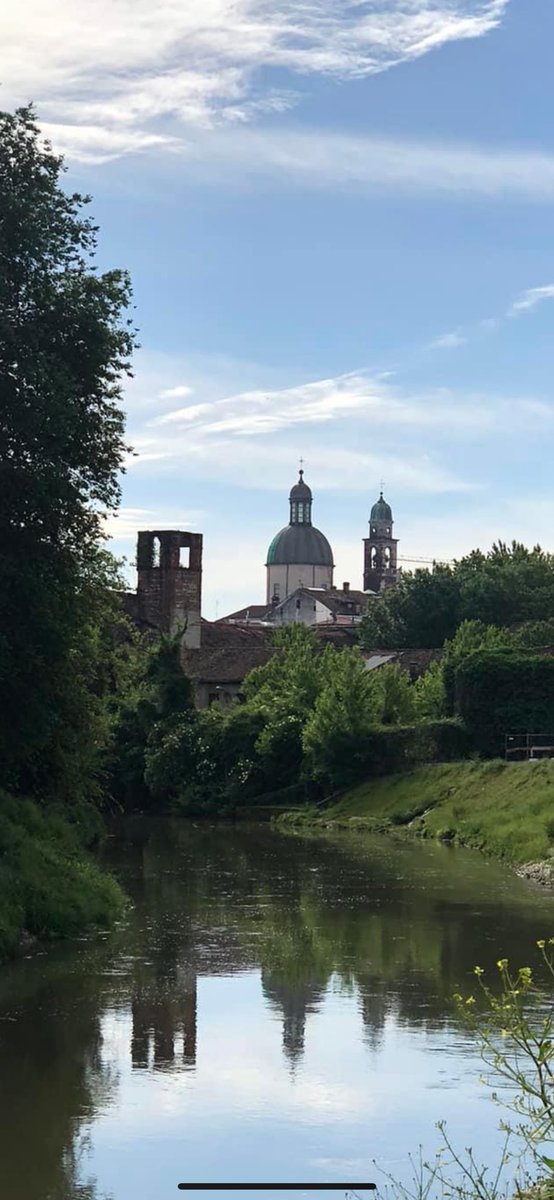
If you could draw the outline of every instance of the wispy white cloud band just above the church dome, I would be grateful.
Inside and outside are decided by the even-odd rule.
[[[179,396],[185,386],[179,361],[173,370],[173,380],[170,370],[164,372],[163,391]],[[263,368],[258,373],[263,377]],[[138,470],[146,480],[163,462],[165,484],[186,470],[188,480],[258,490],[263,480],[264,490],[281,490],[305,454],[317,487],[365,491],[386,467],[396,490],[440,494],[474,486],[444,464],[452,438],[482,439],[498,426],[499,403],[488,397],[447,389],[410,392],[367,371],[227,395],[217,386],[213,397],[210,382],[195,382],[194,402],[162,413],[158,389],[149,404],[133,408],[133,475]]]

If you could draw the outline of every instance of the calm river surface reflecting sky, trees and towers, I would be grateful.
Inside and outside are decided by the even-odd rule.
[[[450,997],[476,962],[529,961],[553,898],[350,834],[137,818],[106,857],[125,926],[0,976],[1,1200],[372,1180],[374,1158],[403,1176],[442,1117],[490,1157],[499,1112]]]

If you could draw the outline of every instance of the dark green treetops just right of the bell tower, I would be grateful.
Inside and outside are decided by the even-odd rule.
[[[452,565],[404,574],[368,607],[361,624],[367,648],[441,647],[465,620],[499,628],[549,620],[554,556],[520,542],[472,551]],[[541,635],[543,636],[543,635]]]

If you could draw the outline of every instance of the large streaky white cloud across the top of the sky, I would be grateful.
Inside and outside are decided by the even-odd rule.
[[[103,161],[175,130],[295,101],[281,77],[356,78],[494,30],[508,0],[26,0],[0,30],[4,103],[36,100],[56,145]],[[277,72],[279,84],[277,85]],[[169,126],[169,128],[168,128]],[[151,139],[155,140],[151,140]]]

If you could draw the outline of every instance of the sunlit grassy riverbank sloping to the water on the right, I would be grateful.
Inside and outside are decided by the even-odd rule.
[[[554,762],[458,762],[372,779],[287,824],[385,830],[472,846],[513,865],[554,860]]]

